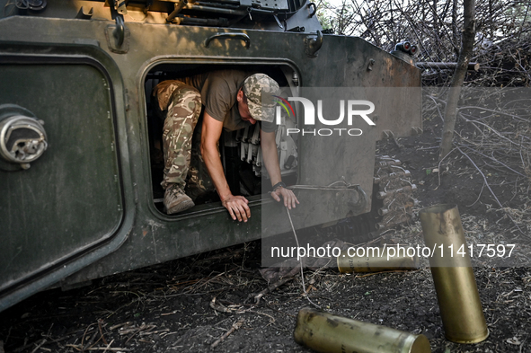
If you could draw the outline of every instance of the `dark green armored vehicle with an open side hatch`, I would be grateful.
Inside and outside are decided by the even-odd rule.
[[[300,200],[291,211],[296,228],[367,215],[373,196],[384,199],[384,217],[395,212],[380,228],[411,208],[409,198],[401,207],[385,201],[413,186],[389,184],[407,172],[391,158],[376,160],[376,141],[420,131],[420,70],[365,40],[323,31],[313,3],[0,4],[0,310],[48,287],[290,230],[287,222],[264,227],[264,209],[285,213],[261,187],[257,129],[220,141],[226,179],[249,199],[249,222],[233,221],[216,199],[164,213],[152,90],[168,78],[238,68],[279,82],[293,108],[282,110],[276,142],[283,180]],[[297,97],[323,87],[361,89],[355,99],[374,105],[366,117],[376,125],[360,117],[359,126],[305,125]]]

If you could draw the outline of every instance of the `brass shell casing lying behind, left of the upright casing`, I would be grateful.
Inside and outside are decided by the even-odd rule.
[[[402,253],[394,252],[395,256],[389,256],[389,258],[387,258],[385,248],[358,248],[357,252],[354,252],[353,249],[351,249],[351,256],[349,256],[348,250],[344,250],[337,258],[338,269],[341,273],[419,269],[419,256],[417,253],[408,256],[407,253],[405,253],[405,249],[403,250],[404,252]]]

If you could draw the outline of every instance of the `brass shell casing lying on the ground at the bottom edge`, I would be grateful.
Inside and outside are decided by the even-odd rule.
[[[303,308],[296,316],[297,343],[318,352],[429,353],[424,335]]]

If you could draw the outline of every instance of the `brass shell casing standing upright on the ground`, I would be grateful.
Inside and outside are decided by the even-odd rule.
[[[420,224],[426,246],[436,249],[429,258],[429,266],[447,340],[457,343],[485,340],[489,330],[457,206],[424,208],[420,211]],[[464,252],[458,254],[460,248]]]

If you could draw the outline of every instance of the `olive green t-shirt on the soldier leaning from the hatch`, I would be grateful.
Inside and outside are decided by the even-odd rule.
[[[219,70],[206,74],[186,78],[186,84],[197,88],[201,93],[201,101],[205,111],[212,118],[223,122],[223,128],[228,131],[247,128],[252,124],[240,116],[236,94],[243,85],[243,81],[252,73],[240,70]],[[276,131],[277,126],[272,122],[259,121],[264,132]]]

